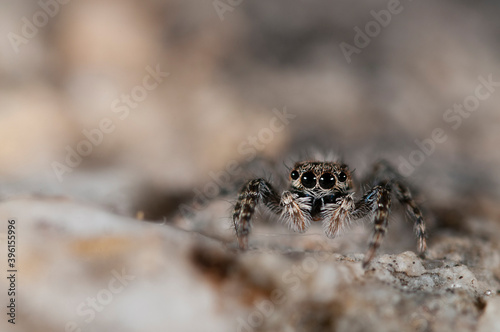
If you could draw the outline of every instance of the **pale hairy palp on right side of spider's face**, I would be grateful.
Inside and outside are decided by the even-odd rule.
[[[335,203],[325,202],[321,217],[326,236],[334,238],[353,219],[355,211],[354,194],[347,194]]]

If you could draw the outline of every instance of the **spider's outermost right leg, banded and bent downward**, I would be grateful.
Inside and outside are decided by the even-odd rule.
[[[418,251],[424,253],[427,249],[424,217],[412,197],[410,188],[401,179],[401,175],[386,161],[380,161],[374,167],[375,176],[390,179],[389,183],[398,201],[406,208],[406,213],[413,220],[413,229],[418,239]]]

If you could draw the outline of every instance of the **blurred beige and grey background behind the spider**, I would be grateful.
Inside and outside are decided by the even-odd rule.
[[[492,0],[3,1],[0,198],[162,220],[234,165],[318,149],[360,177],[380,158],[415,166],[435,228],[498,222],[499,14]]]

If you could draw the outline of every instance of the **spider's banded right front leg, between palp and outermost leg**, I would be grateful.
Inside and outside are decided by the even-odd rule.
[[[374,232],[368,246],[368,251],[363,260],[363,267],[375,256],[375,252],[380,247],[382,239],[387,232],[387,221],[391,207],[391,195],[388,188],[376,186],[364,196],[365,202],[369,204],[373,211]]]

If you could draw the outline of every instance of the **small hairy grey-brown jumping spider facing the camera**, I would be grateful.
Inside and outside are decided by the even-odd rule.
[[[352,220],[371,216],[375,226],[363,266],[370,262],[387,231],[387,219],[394,193],[414,222],[418,251],[426,250],[425,224],[422,213],[413,200],[409,188],[390,165],[375,165],[369,181],[371,189],[359,200],[354,199],[352,174],[340,162],[298,162],[289,174],[290,188],[278,195],[264,179],[248,181],[242,188],[233,210],[233,223],[239,247],[248,247],[251,219],[259,202],[297,232],[305,232],[312,221],[323,221],[329,238],[339,235]]]

